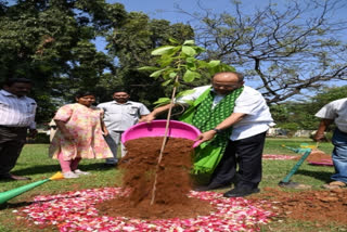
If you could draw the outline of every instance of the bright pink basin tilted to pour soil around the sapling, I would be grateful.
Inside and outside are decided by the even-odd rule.
[[[144,137],[164,137],[165,127],[166,120],[153,120],[151,124],[137,124],[121,134],[121,143]],[[178,120],[170,120],[168,137],[195,140],[200,133],[201,131],[192,125]],[[200,142],[196,141],[193,146],[195,147]]]

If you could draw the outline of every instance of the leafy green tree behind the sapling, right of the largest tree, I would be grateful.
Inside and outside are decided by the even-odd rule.
[[[163,87],[159,79],[153,80],[149,73],[138,68],[153,66],[156,57],[151,55],[152,50],[169,44],[170,38],[183,42],[193,37],[193,29],[188,25],[150,20],[141,12],[130,12],[120,27],[108,33],[106,48],[117,59],[116,76],[123,86],[129,88],[131,98],[150,106],[159,96],[169,95],[171,89]]]

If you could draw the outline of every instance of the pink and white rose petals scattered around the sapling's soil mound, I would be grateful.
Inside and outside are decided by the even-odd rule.
[[[95,205],[126,194],[120,188],[104,188],[40,195],[34,203],[13,212],[38,225],[55,225],[61,232],[73,231],[259,231],[273,212],[264,210],[266,201],[226,198],[215,192],[190,192],[190,197],[208,201],[216,207],[210,215],[187,219],[140,220],[99,216]],[[267,207],[269,208],[269,207]]]

